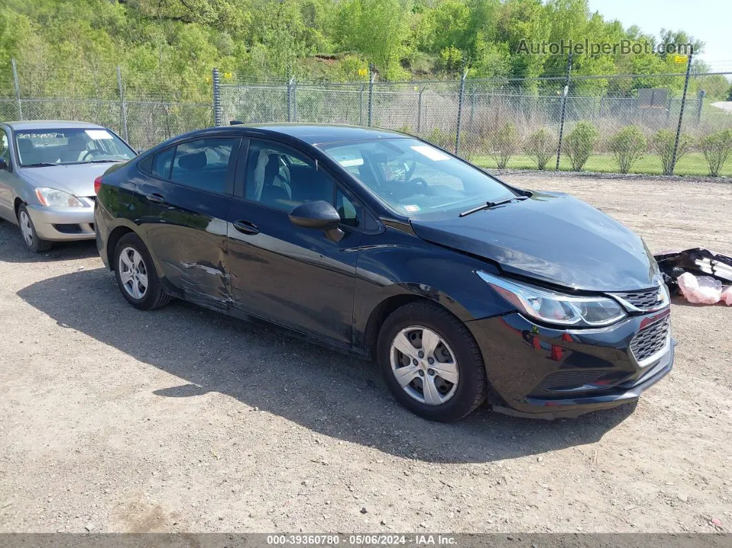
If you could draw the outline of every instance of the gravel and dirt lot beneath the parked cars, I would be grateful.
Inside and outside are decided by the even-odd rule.
[[[506,179],[654,251],[732,254],[732,184]],[[1,223],[0,531],[731,530],[731,320],[676,301],[676,367],[635,407],[431,424],[371,364],[182,302],[138,312],[93,243],[29,255]]]

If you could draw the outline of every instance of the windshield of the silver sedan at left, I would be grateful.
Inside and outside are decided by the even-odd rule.
[[[39,129],[15,132],[20,165],[119,162],[135,157],[122,139],[103,128]]]

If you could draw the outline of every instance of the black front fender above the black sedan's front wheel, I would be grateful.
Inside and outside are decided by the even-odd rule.
[[[354,303],[356,345],[365,345],[366,326],[377,307],[395,296],[435,301],[465,322],[512,312],[512,307],[475,271],[498,274],[495,266],[386,228],[359,247]]]

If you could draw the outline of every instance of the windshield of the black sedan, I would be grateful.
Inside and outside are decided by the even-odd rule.
[[[323,149],[408,217],[515,197],[487,173],[421,140],[365,140]]]

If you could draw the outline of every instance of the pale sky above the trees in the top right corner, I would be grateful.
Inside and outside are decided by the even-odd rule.
[[[619,20],[624,28],[638,25],[658,37],[662,28],[683,30],[706,42],[700,58],[714,72],[732,72],[731,0],[589,0],[592,12]]]

